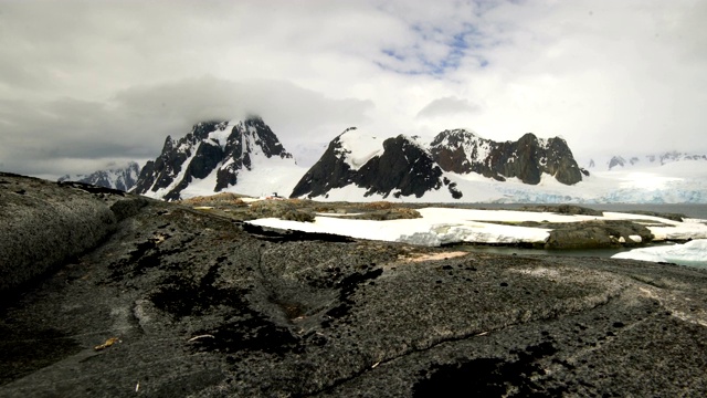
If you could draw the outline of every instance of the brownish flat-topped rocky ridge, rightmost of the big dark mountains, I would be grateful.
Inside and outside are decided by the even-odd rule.
[[[515,177],[537,185],[547,174],[573,185],[582,180],[582,175],[589,176],[577,165],[564,139],[542,139],[531,133],[517,142],[497,143],[465,129],[444,130],[432,140],[430,151],[445,171],[476,172],[499,181]]]

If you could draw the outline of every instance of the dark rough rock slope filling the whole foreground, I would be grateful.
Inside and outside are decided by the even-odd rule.
[[[0,396],[707,395],[707,272],[263,230],[0,174]]]

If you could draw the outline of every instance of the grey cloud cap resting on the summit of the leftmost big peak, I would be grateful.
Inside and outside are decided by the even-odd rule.
[[[358,123],[373,106],[371,101],[329,98],[286,81],[231,82],[211,76],[130,87],[114,100],[120,112],[159,115],[188,124],[256,114],[273,123],[289,123],[302,129],[323,124]]]

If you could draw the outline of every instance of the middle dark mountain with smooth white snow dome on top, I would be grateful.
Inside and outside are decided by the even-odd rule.
[[[430,151],[414,138],[399,135],[381,139],[351,127],[331,140],[291,197],[326,198],[331,190],[351,186],[362,189],[363,197],[421,198],[443,186],[452,192],[454,187],[449,187],[443,174]]]

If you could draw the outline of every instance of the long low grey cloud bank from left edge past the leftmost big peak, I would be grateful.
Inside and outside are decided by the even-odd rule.
[[[370,101],[328,98],[289,82],[209,76],[130,87],[105,103],[6,101],[0,102],[0,123],[11,133],[0,159],[15,172],[89,172],[116,159],[155,158],[167,135],[181,137],[197,122],[251,114],[262,116],[287,148],[358,124],[372,106]]]

